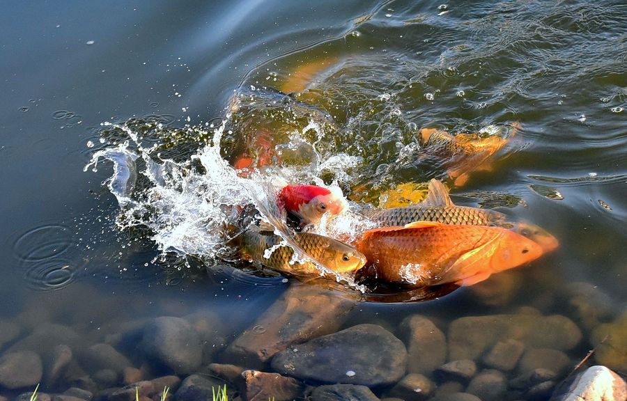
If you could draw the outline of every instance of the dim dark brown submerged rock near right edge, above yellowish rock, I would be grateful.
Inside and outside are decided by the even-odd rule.
[[[612,299],[590,283],[571,283],[564,290],[566,305],[575,321],[591,330],[612,317]]]

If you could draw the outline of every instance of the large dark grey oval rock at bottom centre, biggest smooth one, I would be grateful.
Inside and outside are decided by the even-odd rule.
[[[398,382],[406,364],[403,342],[375,324],[359,324],[315,338],[272,359],[274,370],[298,379],[368,386]]]

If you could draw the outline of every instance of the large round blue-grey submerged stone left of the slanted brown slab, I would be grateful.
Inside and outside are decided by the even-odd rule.
[[[194,372],[202,363],[200,338],[180,317],[157,317],[146,324],[139,347],[148,361],[177,374]]]

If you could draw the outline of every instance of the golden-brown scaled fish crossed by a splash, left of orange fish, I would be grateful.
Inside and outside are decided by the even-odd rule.
[[[295,242],[302,250],[336,273],[353,272],[366,264],[366,257],[351,246],[336,239],[313,233],[295,233]],[[240,253],[279,272],[295,275],[319,275],[314,262],[293,262],[294,250],[271,232],[249,228],[231,242],[240,246]],[[268,253],[270,253],[268,255]],[[266,257],[268,256],[268,257]]]

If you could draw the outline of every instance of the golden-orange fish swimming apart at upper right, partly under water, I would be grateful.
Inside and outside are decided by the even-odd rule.
[[[488,136],[481,138],[479,134],[451,135],[448,132],[423,128],[419,131],[419,140],[426,155],[442,159],[449,178],[456,187],[460,187],[468,179],[472,171],[488,170],[488,159],[508,143],[520,124],[511,125],[511,132],[506,137]]]

